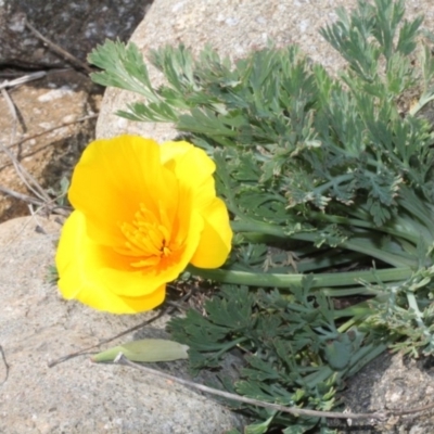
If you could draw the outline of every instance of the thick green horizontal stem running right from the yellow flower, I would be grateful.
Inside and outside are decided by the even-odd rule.
[[[292,285],[301,285],[303,279],[308,275],[279,275],[266,272],[232,271],[225,269],[204,269],[192,265],[187,267],[188,272],[200,276],[204,279],[221,283],[241,284],[247,286],[282,288],[289,289]],[[311,282],[311,288],[348,286],[356,285],[360,280],[365,282],[396,282],[408,279],[412,275],[409,267],[387,268],[384,270],[363,270],[348,272],[317,273]],[[339,291],[339,295],[365,294],[367,289],[347,289]],[[330,291],[329,291],[330,293]],[[372,291],[369,292],[372,294]],[[332,294],[330,294],[332,295]],[[333,295],[336,295],[333,293]]]

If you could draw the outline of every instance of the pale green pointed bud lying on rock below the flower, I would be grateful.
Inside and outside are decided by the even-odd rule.
[[[131,361],[154,362],[187,359],[188,345],[168,340],[146,339],[128,342],[99,353],[92,361],[113,361],[119,353]]]

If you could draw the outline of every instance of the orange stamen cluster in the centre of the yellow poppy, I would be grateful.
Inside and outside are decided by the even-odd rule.
[[[125,248],[118,252],[138,258],[130,264],[132,267],[156,266],[173,253],[168,218],[164,209],[159,209],[159,214],[157,217],[140,204],[132,222],[119,224],[126,242]]]

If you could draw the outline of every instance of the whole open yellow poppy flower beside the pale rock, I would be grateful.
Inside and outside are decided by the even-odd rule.
[[[187,142],[120,136],[90,143],[74,170],[75,210],[56,254],[63,296],[135,314],[163,303],[166,283],[188,264],[224,265],[232,231],[214,171]]]

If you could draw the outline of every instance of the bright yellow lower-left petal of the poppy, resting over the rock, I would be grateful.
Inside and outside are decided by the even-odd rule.
[[[139,272],[125,270],[125,261],[107,247],[98,245],[86,232],[86,219],[82,213],[74,212],[66,220],[58,247],[56,267],[60,275],[59,288],[65,298],[78,299],[95,309],[114,314],[136,314],[152,309],[163,303],[165,284],[150,289],[140,279]],[[112,291],[106,285],[104,270],[114,265],[124,283],[131,280],[141,291],[136,297]]]

